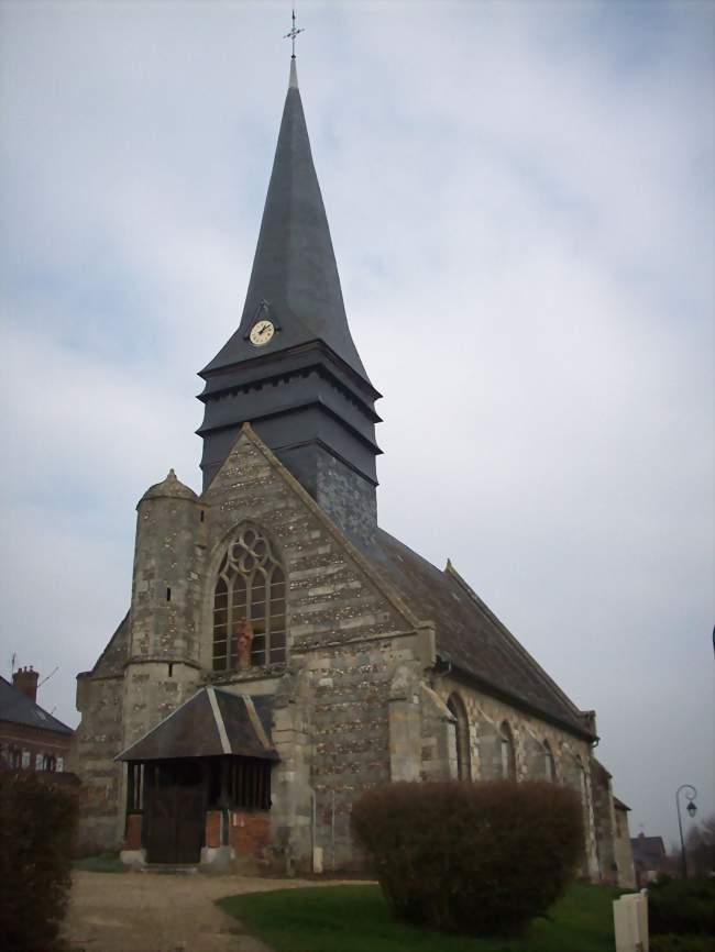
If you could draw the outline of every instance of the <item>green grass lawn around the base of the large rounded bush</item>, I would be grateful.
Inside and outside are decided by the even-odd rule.
[[[276,952],[614,952],[620,890],[575,884],[521,939],[426,932],[392,918],[378,886],[321,886],[229,896],[218,905]]]

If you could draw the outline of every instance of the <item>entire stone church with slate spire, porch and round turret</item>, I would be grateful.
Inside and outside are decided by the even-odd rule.
[[[361,790],[578,790],[583,874],[623,878],[580,710],[458,571],[377,524],[350,334],[295,58],[241,322],[200,372],[204,489],[138,505],[131,607],[77,678],[81,838],[133,863],[350,868]]]

